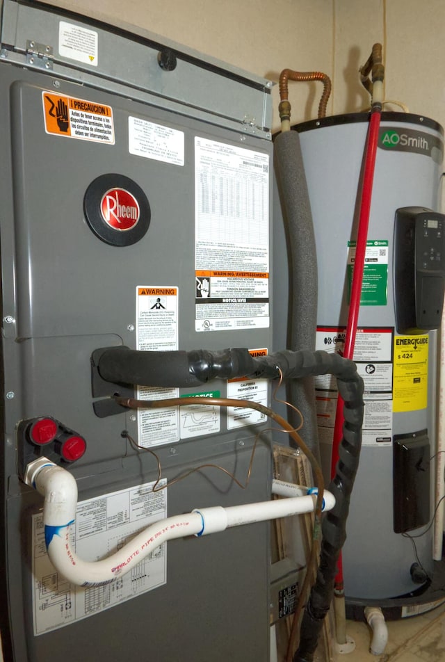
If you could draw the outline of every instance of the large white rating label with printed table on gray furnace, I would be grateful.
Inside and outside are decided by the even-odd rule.
[[[195,330],[269,326],[269,156],[195,137]]]

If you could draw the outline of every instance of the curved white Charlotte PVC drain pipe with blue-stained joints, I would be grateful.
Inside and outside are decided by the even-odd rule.
[[[25,482],[44,496],[43,523],[48,556],[56,570],[77,586],[94,586],[113,581],[167,540],[183,538],[185,535],[208,535],[224,531],[229,526],[312,512],[316,501],[314,495],[307,494],[229,508],[202,508],[186,515],[168,517],[138,533],[113,556],[90,562],[79,558],[70,542],[70,529],[76,518],[77,505],[77,486],[72,474],[46,458],[40,458],[27,467]],[[285,485],[287,490],[292,487],[294,491],[301,490],[290,483]],[[280,489],[280,485],[275,486],[275,481],[274,487]],[[324,492],[323,502],[323,510],[330,510],[334,507],[334,496]]]

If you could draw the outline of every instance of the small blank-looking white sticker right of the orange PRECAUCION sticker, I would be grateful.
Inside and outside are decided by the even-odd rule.
[[[184,131],[129,117],[128,147],[135,156],[184,165]]]

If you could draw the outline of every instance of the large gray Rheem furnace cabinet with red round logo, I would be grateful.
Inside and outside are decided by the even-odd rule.
[[[193,51],[39,3],[3,1],[1,583],[8,660],[268,659],[269,525],[164,544],[127,578],[75,588],[51,567],[26,462],[79,487],[95,560],[170,514],[270,498],[264,419],[199,407],[131,412],[96,350],[271,346],[270,86]],[[94,364],[94,360],[93,360]],[[94,367],[94,366],[93,366]],[[266,380],[201,395],[268,403]],[[255,395],[254,395],[255,394]],[[122,435],[124,433],[124,435]]]

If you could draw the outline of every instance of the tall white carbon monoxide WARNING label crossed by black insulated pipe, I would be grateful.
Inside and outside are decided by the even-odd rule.
[[[177,350],[178,288],[136,288],[136,343],[138,350]],[[141,400],[179,397],[179,389],[139,386]],[[179,441],[179,407],[138,410],[140,446],[160,446]]]

